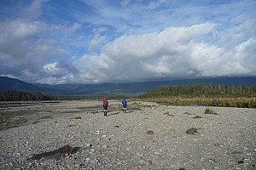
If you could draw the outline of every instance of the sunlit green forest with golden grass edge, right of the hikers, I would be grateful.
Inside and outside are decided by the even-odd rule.
[[[192,84],[159,88],[138,99],[169,105],[212,105],[256,108],[256,87]]]

